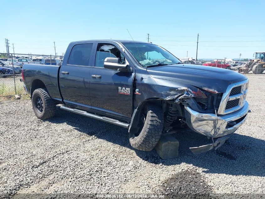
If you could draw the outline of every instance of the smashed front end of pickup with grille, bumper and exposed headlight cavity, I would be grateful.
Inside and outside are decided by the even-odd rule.
[[[247,87],[248,80],[245,80],[231,84],[225,93],[206,87],[202,90],[183,87],[166,91],[164,100],[169,102],[169,106],[166,108],[164,130],[168,131],[172,126],[173,113],[180,112],[178,117],[183,117],[181,120],[191,130],[212,138],[208,145],[191,147],[194,154],[219,148],[246,120],[249,111]]]

